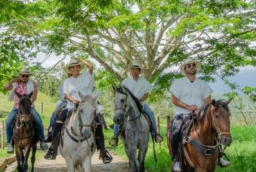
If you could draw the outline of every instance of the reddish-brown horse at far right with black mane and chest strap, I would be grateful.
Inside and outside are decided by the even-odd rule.
[[[228,109],[230,101],[222,102],[213,99],[212,103],[205,107],[205,112],[194,120],[188,137],[183,140],[182,150],[186,164],[183,164],[183,171],[212,172],[215,170],[219,144],[230,146],[232,142]],[[219,142],[215,139],[217,135]],[[192,142],[196,142],[199,146],[192,145]],[[170,138],[167,139],[167,144],[171,153]],[[198,147],[201,147],[205,153],[200,153]]]

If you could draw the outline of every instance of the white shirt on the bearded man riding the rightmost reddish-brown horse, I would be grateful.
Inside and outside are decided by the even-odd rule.
[[[171,92],[176,98],[187,105],[196,105],[200,108],[205,98],[212,94],[212,89],[205,81],[196,78],[193,83],[187,77],[179,78],[172,83]],[[191,110],[174,105],[174,116],[190,114]]]

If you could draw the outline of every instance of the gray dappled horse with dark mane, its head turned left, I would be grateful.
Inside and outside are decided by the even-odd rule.
[[[141,115],[143,105],[140,101],[129,91],[129,89],[120,86],[113,87],[116,92],[114,103],[115,111],[113,121],[117,125],[123,124],[123,131],[125,138],[121,140],[125,145],[125,152],[129,158],[129,166],[131,171],[136,172],[145,171],[145,156],[149,142],[149,125],[145,116]],[[138,149],[138,161],[140,167],[137,165],[136,151]]]

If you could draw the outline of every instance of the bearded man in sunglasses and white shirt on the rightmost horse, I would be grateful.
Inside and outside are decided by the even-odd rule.
[[[191,58],[185,60],[181,65],[180,71],[183,78],[179,78],[172,83],[172,103],[174,104],[174,122],[172,127],[171,147],[173,170],[181,171],[181,164],[176,160],[179,153],[179,144],[181,142],[181,129],[190,115],[198,115],[199,111],[211,103],[212,89],[203,80],[196,78],[196,74],[201,69],[198,61]],[[220,158],[222,166],[228,166],[229,161]]]

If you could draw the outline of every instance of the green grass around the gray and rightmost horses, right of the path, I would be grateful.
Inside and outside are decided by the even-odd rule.
[[[111,118],[107,118],[108,124],[112,124]],[[165,124],[161,125],[161,134],[165,136]],[[125,150],[122,142],[119,142],[118,147],[109,147],[113,130],[104,131],[107,147],[115,153],[125,155]],[[232,126],[232,144],[226,149],[228,158],[231,164],[226,168],[217,166],[217,172],[255,172],[256,171],[256,126]],[[149,140],[149,151],[145,166],[149,172],[169,172],[172,165],[169,151],[167,149],[166,137],[161,144],[161,148],[156,146],[156,156],[158,162],[154,162],[154,153],[152,151],[152,140]]]

